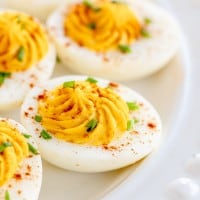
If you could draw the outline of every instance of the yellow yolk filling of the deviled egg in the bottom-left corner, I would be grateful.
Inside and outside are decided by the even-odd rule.
[[[0,153],[0,187],[13,177],[29,152],[24,136],[7,122],[0,121],[0,145],[8,142],[11,146]]]

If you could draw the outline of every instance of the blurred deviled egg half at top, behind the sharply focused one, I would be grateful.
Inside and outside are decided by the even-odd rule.
[[[156,72],[180,43],[174,18],[140,0],[68,1],[50,15],[47,26],[63,64],[110,80],[139,79]]]

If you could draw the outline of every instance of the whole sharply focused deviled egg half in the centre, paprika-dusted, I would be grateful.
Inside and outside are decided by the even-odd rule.
[[[21,120],[45,160],[78,172],[133,164],[161,136],[160,118],[143,97],[86,76],[59,77],[34,87],[22,105]]]

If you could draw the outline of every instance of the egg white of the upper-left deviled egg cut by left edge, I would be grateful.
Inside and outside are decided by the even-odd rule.
[[[5,11],[7,10],[0,9],[0,13]],[[12,11],[9,10],[9,12]],[[41,60],[25,71],[12,73],[11,77],[6,78],[0,86],[0,110],[11,110],[19,106],[30,88],[49,79],[53,73],[55,61],[55,47],[49,39],[48,51]]]

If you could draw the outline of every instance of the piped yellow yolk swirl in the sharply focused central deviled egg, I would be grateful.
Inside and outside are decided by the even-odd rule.
[[[126,102],[112,89],[86,81],[76,82],[74,88],[60,86],[49,91],[40,100],[38,112],[43,127],[55,137],[94,146],[122,136],[129,116]],[[87,125],[93,119],[97,126],[88,132]]]

